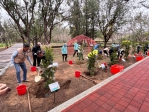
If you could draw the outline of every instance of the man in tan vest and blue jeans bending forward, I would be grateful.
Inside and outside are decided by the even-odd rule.
[[[29,47],[30,47],[30,45],[25,43],[25,44],[23,44],[23,48],[18,48],[11,55],[11,59],[10,59],[11,65],[10,66],[15,66],[16,77],[17,77],[19,84],[21,84],[22,82],[28,82],[28,80],[26,78],[27,77],[27,69],[26,69],[25,59],[27,58],[27,60],[32,65],[32,62],[31,62],[30,57],[28,55]],[[22,81],[20,78],[20,67],[23,70],[23,80]]]

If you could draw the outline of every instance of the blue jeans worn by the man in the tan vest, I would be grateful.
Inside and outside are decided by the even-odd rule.
[[[23,80],[26,80],[27,69],[26,69],[25,63],[19,63],[19,64],[15,63],[14,66],[16,69],[16,76],[17,76],[18,83],[22,82],[20,78],[20,67],[23,70]]]

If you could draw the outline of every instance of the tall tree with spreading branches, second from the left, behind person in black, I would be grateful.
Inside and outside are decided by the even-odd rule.
[[[51,42],[52,30],[61,21],[58,17],[62,17],[63,11],[60,6],[64,0],[39,0],[40,18],[43,20],[45,42]]]

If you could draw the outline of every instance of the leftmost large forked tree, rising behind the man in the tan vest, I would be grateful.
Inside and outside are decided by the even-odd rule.
[[[23,43],[30,43],[30,31],[34,19],[36,0],[0,0],[1,7],[18,27]]]

